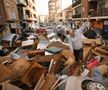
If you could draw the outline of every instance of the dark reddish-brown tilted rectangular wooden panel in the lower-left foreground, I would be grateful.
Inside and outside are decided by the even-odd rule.
[[[43,73],[47,70],[40,64],[33,62],[24,76],[22,76],[21,81],[28,85],[29,87],[34,87]]]

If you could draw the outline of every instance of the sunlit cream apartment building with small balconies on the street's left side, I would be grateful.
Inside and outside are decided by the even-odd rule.
[[[37,15],[36,15],[36,1],[35,0],[27,0],[26,7],[23,8],[24,10],[24,27],[25,28],[35,28],[37,23]]]

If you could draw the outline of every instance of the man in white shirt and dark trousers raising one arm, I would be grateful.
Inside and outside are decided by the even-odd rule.
[[[83,59],[83,43],[81,35],[83,34],[85,28],[88,26],[88,21],[90,17],[87,18],[87,22],[85,22],[79,29],[74,30],[70,29],[69,32],[69,45],[71,51],[74,53],[75,60],[79,61]]]

